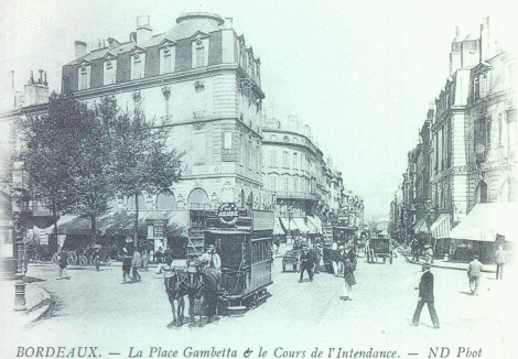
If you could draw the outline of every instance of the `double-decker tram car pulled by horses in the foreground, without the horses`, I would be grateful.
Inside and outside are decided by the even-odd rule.
[[[191,209],[187,257],[215,246],[222,260],[223,306],[227,313],[265,301],[272,283],[273,213],[223,204]]]

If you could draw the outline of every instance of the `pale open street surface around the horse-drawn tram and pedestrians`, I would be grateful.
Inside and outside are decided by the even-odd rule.
[[[435,307],[441,320],[441,328],[434,330],[427,308],[420,326],[410,326],[421,270],[402,258],[392,265],[367,264],[360,258],[354,301],[346,302],[339,300],[342,278],[317,274],[313,282],[299,283],[299,274],[281,272],[280,260],[276,259],[273,284],[269,286],[272,296],[265,304],[242,317],[222,317],[202,328],[185,325],[173,329],[166,328],[172,320],[171,307],[154,269],[142,271],[142,282],[123,285],[118,263],[104,266],[100,272],[72,268],[69,280],[56,280],[57,271],[51,264],[33,264],[28,275],[43,280],[37,285],[52,295],[55,305],[46,318],[12,336],[9,347],[36,346],[39,341],[45,346],[62,345],[66,338],[68,346],[95,345],[128,355],[127,349],[137,344],[149,349],[160,345],[183,348],[198,342],[207,348],[218,347],[224,339],[225,346],[241,348],[246,339],[242,350],[253,345],[259,348],[263,342],[269,344],[270,350],[295,344],[301,348],[301,342],[305,342],[304,348],[310,351],[315,347],[369,349],[376,342],[403,357],[427,357],[430,348],[449,347],[453,353],[458,346],[478,350],[484,342],[482,349],[487,358],[500,358],[503,352],[497,348],[509,350],[516,335],[503,329],[516,319],[500,309],[508,307],[510,297],[505,295],[505,285],[509,282],[493,280],[493,273],[484,275],[481,295],[472,297],[467,295],[464,271],[433,269]],[[231,338],[227,333],[233,334]]]

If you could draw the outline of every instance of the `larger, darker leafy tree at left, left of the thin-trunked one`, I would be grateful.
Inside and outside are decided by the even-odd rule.
[[[104,119],[109,111],[106,104],[88,109],[71,93],[54,93],[47,116],[28,117],[21,123],[34,198],[55,218],[65,213],[89,218],[94,243],[96,217],[108,210],[112,196],[109,119]]]

